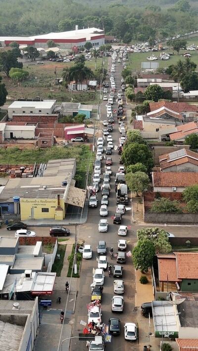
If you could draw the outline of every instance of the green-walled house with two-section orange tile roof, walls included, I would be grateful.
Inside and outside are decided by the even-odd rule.
[[[157,263],[160,291],[169,283],[174,291],[198,292],[198,252],[160,254]]]

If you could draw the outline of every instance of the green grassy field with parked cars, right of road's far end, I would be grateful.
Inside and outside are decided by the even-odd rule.
[[[195,41],[193,42],[195,43]],[[193,44],[192,43],[192,44]],[[172,50],[169,50],[172,52]],[[168,52],[168,50],[166,51]],[[180,50],[179,55],[177,55],[177,52],[174,52],[174,56],[170,56],[169,60],[167,61],[161,61],[159,60],[159,68],[167,68],[170,65],[175,65],[179,59],[185,60],[185,57],[183,56],[184,52],[187,52],[187,50]],[[156,56],[159,55],[158,52],[153,52],[156,54]],[[198,65],[198,51],[190,51],[191,53],[191,60],[195,62]],[[132,69],[133,72],[139,72],[141,71],[141,66],[142,62],[148,62],[147,57],[150,56],[152,52],[137,52],[137,53],[131,53],[129,54],[129,60],[128,60],[128,65]],[[182,55],[182,56],[181,56]],[[154,61],[157,62],[157,61]]]

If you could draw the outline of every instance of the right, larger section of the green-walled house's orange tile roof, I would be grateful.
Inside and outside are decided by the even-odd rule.
[[[179,279],[198,279],[198,253],[175,252]]]

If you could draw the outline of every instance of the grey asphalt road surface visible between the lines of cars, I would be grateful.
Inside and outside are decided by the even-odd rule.
[[[118,88],[121,85],[121,65],[120,63],[116,63],[116,74],[115,74],[115,84],[116,84],[116,93]],[[109,90],[109,88],[108,88]],[[126,106],[125,106],[126,108]],[[117,109],[117,103],[114,102],[112,110]],[[106,107],[105,102],[101,104],[101,120],[106,119]],[[102,128],[102,127],[101,127]],[[115,117],[115,124],[113,127],[113,144],[118,145],[119,139],[119,132],[118,132],[118,122]],[[106,146],[106,141],[104,146]],[[119,155],[117,151],[113,150],[112,152],[112,173],[115,174],[119,167]],[[104,161],[102,161],[102,166],[104,167]],[[104,169],[104,168],[103,168]],[[103,171],[103,170],[102,170]],[[103,172],[101,172],[103,174]],[[101,192],[99,193],[99,203],[101,199]],[[129,205],[130,206],[130,205]],[[108,215],[108,223],[109,229],[107,233],[99,233],[98,232],[98,223],[99,223],[99,207],[97,209],[90,209],[88,214],[87,223],[81,227],[80,230],[80,237],[85,240],[85,243],[89,243],[92,245],[94,250],[94,255],[92,260],[83,260],[82,267],[81,267],[81,276],[79,279],[79,294],[77,299],[76,305],[76,313],[75,313],[75,323],[73,327],[73,335],[77,335],[79,332],[83,331],[83,326],[80,325],[80,321],[84,320],[87,322],[88,320],[88,310],[87,304],[90,302],[91,298],[91,288],[90,284],[93,282],[93,267],[97,268],[97,261],[96,261],[96,247],[99,239],[103,239],[106,241],[107,248],[108,248],[108,257],[109,257],[109,249],[113,246],[114,251],[117,249],[117,240],[118,240],[118,227],[119,225],[113,224],[113,220],[111,216],[113,216],[116,210],[116,194],[115,194],[115,187],[114,187],[114,176],[111,177],[111,194],[109,197],[109,215]],[[125,225],[131,224],[131,211],[128,211],[123,216],[123,223]],[[85,228],[85,230],[84,230]],[[128,244],[128,250],[132,249],[132,242],[136,241],[136,233],[134,230],[131,230],[127,240],[130,240]],[[110,261],[110,257],[109,257]],[[115,259],[112,261],[115,263]],[[127,350],[130,347],[128,343],[124,341],[124,328],[123,325],[125,322],[130,321],[130,311],[134,308],[134,294],[135,294],[135,285],[134,285],[134,273],[132,269],[131,259],[127,259],[127,263],[123,264],[124,273],[123,279],[125,282],[125,294],[124,294],[124,312],[121,314],[114,314],[111,312],[111,298],[113,297],[113,277],[108,277],[108,273],[105,272],[105,280],[104,280],[104,290],[103,290],[103,297],[102,297],[102,321],[107,323],[109,317],[118,317],[121,320],[121,335],[118,337],[112,337],[111,344],[106,345],[106,350],[110,350],[113,347],[113,350]],[[132,321],[132,320],[131,320]],[[78,341],[71,341],[71,350],[85,350],[85,342],[78,342]],[[138,345],[133,344],[133,350],[138,350]]]

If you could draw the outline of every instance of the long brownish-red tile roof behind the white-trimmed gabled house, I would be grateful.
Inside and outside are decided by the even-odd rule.
[[[198,112],[198,106],[190,105],[187,102],[167,102],[167,101],[159,101],[159,102],[150,102],[150,111],[158,110],[161,107],[166,107],[174,112]]]

